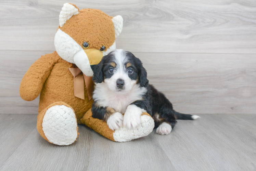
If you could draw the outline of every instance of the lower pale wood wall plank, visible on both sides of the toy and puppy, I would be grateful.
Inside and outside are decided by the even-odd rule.
[[[0,113],[37,113],[39,99],[22,100],[19,87],[29,66],[46,53],[50,51],[0,51]],[[255,114],[254,54],[134,54],[143,62],[150,83],[167,96],[177,111]]]

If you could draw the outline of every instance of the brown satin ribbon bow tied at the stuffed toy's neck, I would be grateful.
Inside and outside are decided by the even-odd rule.
[[[73,66],[76,67],[76,66]],[[78,98],[85,100],[85,89],[84,89],[84,79],[87,90],[88,99],[92,99],[93,92],[93,81],[92,77],[88,77],[82,73],[79,68],[68,68],[74,77],[74,95]]]

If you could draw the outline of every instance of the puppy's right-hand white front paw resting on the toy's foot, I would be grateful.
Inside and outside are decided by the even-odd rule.
[[[142,109],[136,105],[129,105],[125,111],[124,115],[124,127],[127,129],[135,129],[140,123],[140,116],[142,114]]]

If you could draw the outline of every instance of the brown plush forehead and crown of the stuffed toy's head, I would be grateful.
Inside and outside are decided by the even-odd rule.
[[[108,49],[115,41],[112,18],[101,10],[82,9],[79,14],[67,20],[60,29],[79,45],[86,41],[90,48],[100,49],[105,46]]]

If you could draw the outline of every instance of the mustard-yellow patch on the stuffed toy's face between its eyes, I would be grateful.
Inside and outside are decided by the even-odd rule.
[[[103,52],[101,52],[99,49],[93,49],[93,48],[88,48],[88,49],[84,49],[90,65],[97,65],[100,63],[102,57],[103,57]]]

